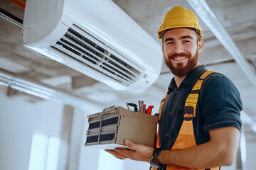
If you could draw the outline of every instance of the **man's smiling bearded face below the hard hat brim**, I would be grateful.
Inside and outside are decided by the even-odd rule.
[[[199,66],[198,53],[203,50],[203,40],[188,28],[174,28],[164,33],[162,50],[166,66],[176,77],[184,77]]]

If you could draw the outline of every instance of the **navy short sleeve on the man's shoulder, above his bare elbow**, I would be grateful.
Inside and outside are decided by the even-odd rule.
[[[223,74],[216,73],[207,78],[201,89],[204,130],[207,132],[228,126],[241,130],[242,101],[238,89]]]

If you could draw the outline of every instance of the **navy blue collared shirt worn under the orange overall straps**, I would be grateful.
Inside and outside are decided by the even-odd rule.
[[[161,108],[159,123],[161,149],[171,149],[183,123],[183,110],[186,98],[193,85],[206,72],[204,65],[193,69],[177,88],[174,78],[168,88],[168,96]],[[208,130],[234,126],[241,130],[240,120],[242,101],[235,85],[220,73],[212,73],[203,81],[193,118],[196,144],[210,140]],[[165,169],[161,167],[161,169]]]

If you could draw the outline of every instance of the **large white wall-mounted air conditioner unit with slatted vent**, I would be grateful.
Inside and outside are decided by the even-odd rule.
[[[110,0],[27,0],[23,44],[114,89],[159,77],[161,45]]]

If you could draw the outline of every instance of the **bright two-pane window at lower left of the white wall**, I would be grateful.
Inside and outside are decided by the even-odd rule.
[[[35,133],[31,145],[28,170],[55,170],[58,165],[60,140]]]

